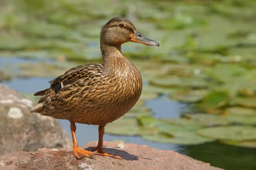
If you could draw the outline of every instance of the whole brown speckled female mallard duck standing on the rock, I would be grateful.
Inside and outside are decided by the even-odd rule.
[[[77,159],[93,154],[113,156],[103,151],[104,127],[127,113],[137,102],[142,78],[137,68],[121,52],[125,42],[157,45],[144,37],[130,20],[115,17],[102,27],[100,49],[103,64],[79,65],[50,81],[50,88],[35,93],[43,96],[30,112],[70,121],[73,153]],[[98,146],[90,152],[79,148],[76,125],[99,125]]]

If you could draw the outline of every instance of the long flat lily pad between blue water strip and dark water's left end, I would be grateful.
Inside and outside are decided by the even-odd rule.
[[[201,137],[195,134],[195,132],[191,131],[176,131],[172,132],[172,135],[166,133],[159,133],[157,135],[143,135],[142,138],[147,141],[171,144],[202,144],[205,142],[214,141],[214,139]]]

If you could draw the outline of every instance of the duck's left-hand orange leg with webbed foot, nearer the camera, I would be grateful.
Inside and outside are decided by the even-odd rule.
[[[70,129],[72,133],[72,139],[73,139],[73,154],[77,159],[82,159],[84,157],[89,157],[93,159],[93,152],[90,152],[88,150],[83,150],[78,146],[78,143],[76,141],[76,125],[75,123],[70,124]]]

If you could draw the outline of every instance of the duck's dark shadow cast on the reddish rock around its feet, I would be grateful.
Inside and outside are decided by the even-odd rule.
[[[92,150],[94,147],[87,147],[85,150]],[[128,161],[138,161],[139,156],[131,155],[128,152],[125,152],[123,150],[118,150],[115,148],[109,148],[109,147],[104,147],[103,150],[106,153],[109,153],[111,155],[116,155],[116,156],[121,156],[123,159],[128,160]]]

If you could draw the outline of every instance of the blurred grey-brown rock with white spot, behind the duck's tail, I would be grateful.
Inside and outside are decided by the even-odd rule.
[[[0,155],[73,146],[58,120],[29,113],[34,105],[22,94],[0,84]]]

